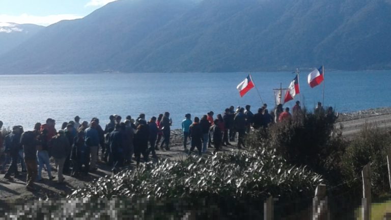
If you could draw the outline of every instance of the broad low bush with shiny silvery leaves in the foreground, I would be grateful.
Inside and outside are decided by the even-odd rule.
[[[320,183],[320,175],[290,166],[275,151],[264,149],[147,163],[134,171],[100,178],[68,198],[149,198],[169,207],[177,207],[180,201],[188,205],[175,210],[177,217],[187,210],[201,210],[198,217],[211,218],[209,212],[214,210],[232,219],[255,218],[262,216],[262,204],[270,195],[281,202],[311,198]]]

